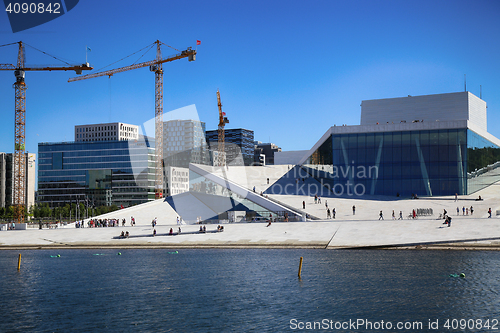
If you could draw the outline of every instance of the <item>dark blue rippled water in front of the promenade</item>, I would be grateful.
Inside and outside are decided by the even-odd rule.
[[[500,331],[500,324],[496,330],[491,327],[500,320],[500,252],[494,251],[123,249],[0,254],[1,332],[311,332],[298,329],[307,328],[308,322],[322,323],[316,326],[325,328],[316,330],[321,332],[398,331],[383,330],[381,321],[422,323],[404,332]],[[60,257],[51,257],[57,254]],[[465,278],[450,276],[462,272]],[[370,321],[372,329],[335,330],[335,323],[358,319]],[[450,329],[444,327],[447,319]],[[481,322],[469,322],[472,329],[462,330],[453,319]],[[487,319],[489,329],[482,327]],[[436,320],[438,329],[429,330],[429,321]]]

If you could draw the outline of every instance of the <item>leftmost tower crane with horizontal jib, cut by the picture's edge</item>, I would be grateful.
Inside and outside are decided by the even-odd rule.
[[[16,43],[6,44],[14,45]],[[13,70],[16,76],[15,90],[15,132],[14,132],[14,195],[12,203],[15,206],[15,219],[17,223],[24,221],[24,207],[26,206],[26,158],[25,158],[25,126],[26,126],[26,71],[69,71],[74,70],[81,74],[84,70],[92,70],[88,63],[68,66],[26,66],[26,52],[22,41],[17,53],[17,65],[0,64],[0,70]]]

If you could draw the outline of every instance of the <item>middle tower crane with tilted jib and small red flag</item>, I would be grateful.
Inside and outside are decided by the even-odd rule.
[[[186,50],[179,54],[168,58],[162,58],[160,46],[166,45],[159,40],[154,42],[156,44],[156,59],[141,62],[138,64],[115,68],[107,71],[87,74],[79,77],[73,77],[68,82],[91,79],[99,76],[111,77],[113,74],[129,71],[136,68],[148,67],[151,72],[155,73],[155,149],[156,149],[156,163],[155,163],[155,196],[161,198],[163,196],[163,69],[162,64],[174,60],[188,58],[189,61],[196,60],[196,50],[188,47]],[[168,46],[168,45],[167,45]]]

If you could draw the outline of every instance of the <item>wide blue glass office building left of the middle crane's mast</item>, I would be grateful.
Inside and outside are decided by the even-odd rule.
[[[38,154],[40,203],[128,207],[154,200],[155,152],[148,140],[40,143]]]

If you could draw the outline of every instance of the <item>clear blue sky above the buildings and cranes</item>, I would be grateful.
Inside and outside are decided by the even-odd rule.
[[[357,125],[362,100],[467,90],[488,104],[500,137],[499,1],[97,1],[12,33],[0,13],[0,44],[23,42],[95,69],[155,40],[196,47],[195,62],[164,65],[164,110],[195,104],[207,129],[220,89],[229,128],[283,150],[310,149],[334,124]],[[174,54],[163,50],[164,56]],[[31,49],[27,64],[59,64]],[[154,52],[143,60],[153,59]],[[14,63],[17,47],[0,48]],[[131,61],[116,66],[125,66]],[[113,67],[111,67],[113,68]],[[26,148],[71,141],[74,126],[154,116],[154,74],[136,69],[68,83],[74,72],[27,72]],[[12,71],[0,71],[0,151],[14,149]]]

